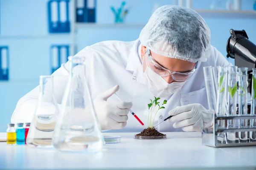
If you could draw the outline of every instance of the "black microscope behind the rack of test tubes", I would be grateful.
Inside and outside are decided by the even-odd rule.
[[[248,68],[248,87],[247,91],[252,93],[252,69],[256,68],[256,45],[248,40],[244,30],[237,31],[230,29],[230,37],[227,40],[227,58],[235,59],[235,65]],[[237,86],[239,87],[239,86]],[[237,105],[238,107],[238,105]],[[247,107],[247,113],[250,114],[250,105]],[[238,114],[238,110],[237,110]]]

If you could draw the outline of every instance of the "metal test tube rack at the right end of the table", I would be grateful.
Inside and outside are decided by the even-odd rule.
[[[239,119],[256,119],[254,115],[243,115],[243,116],[217,116],[216,114],[212,114],[213,117],[213,125],[211,127],[204,127],[202,128],[202,144],[211,146],[211,147],[239,147],[239,146],[256,146],[256,142],[251,142],[250,135],[246,142],[239,142],[239,137],[237,134],[239,132],[249,132],[249,131],[256,131],[256,127],[247,126],[247,127],[235,127],[235,128],[221,128],[218,126],[219,120],[239,120]],[[227,133],[233,132],[236,133],[236,140],[230,142],[227,140]],[[219,140],[219,133],[224,133],[224,139]]]

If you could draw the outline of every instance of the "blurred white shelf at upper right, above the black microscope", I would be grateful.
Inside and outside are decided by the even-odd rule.
[[[256,19],[256,11],[224,11],[224,10],[195,10],[202,17],[229,17]]]

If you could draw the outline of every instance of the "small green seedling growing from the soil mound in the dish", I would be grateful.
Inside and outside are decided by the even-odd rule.
[[[148,104],[148,127],[153,128],[154,127],[154,119],[157,116],[157,112],[160,109],[164,109],[165,107],[163,107],[163,105],[165,105],[167,103],[167,100],[163,101],[162,105],[159,105],[160,102],[158,102],[160,100],[159,97],[155,97],[154,96],[154,100],[151,100],[151,103]],[[155,111],[155,108],[157,108],[157,111]],[[155,112],[155,113],[154,113]],[[152,119],[153,118],[153,119]]]

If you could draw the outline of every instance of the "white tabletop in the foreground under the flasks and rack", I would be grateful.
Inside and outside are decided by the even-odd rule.
[[[0,169],[234,169],[256,168],[256,147],[214,148],[201,144],[201,133],[165,133],[168,139],[133,139],[122,136],[118,144],[106,144],[102,153],[66,153],[0,142]],[[5,136],[5,133],[0,133]]]

